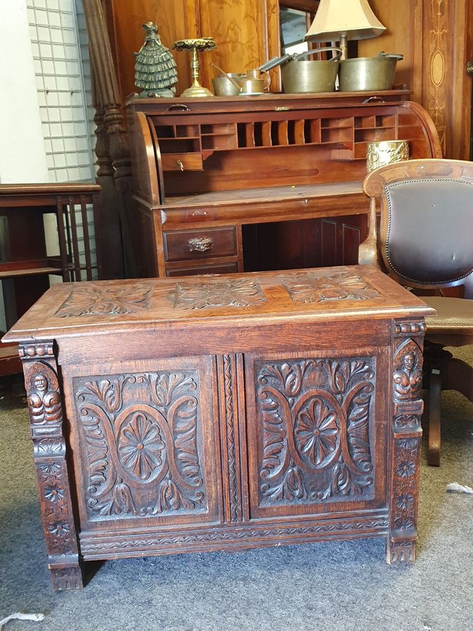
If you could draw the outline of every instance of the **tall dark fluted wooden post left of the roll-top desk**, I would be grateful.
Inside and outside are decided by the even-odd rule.
[[[112,227],[115,240],[109,247],[113,258],[116,257],[116,248],[123,247],[125,275],[137,276],[134,253],[134,206],[132,202],[132,172],[130,162],[130,150],[128,147],[128,135],[125,129],[125,119],[121,109],[120,90],[116,77],[114,59],[111,54],[109,34],[104,18],[102,3],[100,0],[84,0],[83,8],[90,48],[90,66],[95,84],[95,107],[98,110],[98,123],[102,123],[103,128],[97,132],[97,137],[107,134],[107,141],[102,142],[98,148],[97,157],[102,159],[109,156],[111,168],[113,169],[114,186],[117,191],[106,186],[102,196],[102,210],[104,219],[107,221],[118,212],[118,224],[121,228],[121,242],[118,243],[118,226]],[[102,116],[103,113],[103,116]],[[97,120],[97,119],[96,119]],[[102,155],[99,155],[99,153]],[[102,174],[102,175],[109,175]],[[102,182],[100,182],[102,184]],[[102,184],[103,186],[103,184]],[[107,196],[109,194],[109,196]],[[105,208],[108,205],[108,209]],[[117,223],[116,221],[114,222]],[[102,238],[105,240],[107,225],[102,225]],[[106,241],[107,243],[107,241]],[[107,250],[104,248],[104,260],[107,261]],[[114,252],[112,250],[115,250]],[[120,277],[123,274],[117,269],[109,276]]]

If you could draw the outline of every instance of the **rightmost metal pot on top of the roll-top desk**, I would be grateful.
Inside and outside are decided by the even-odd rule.
[[[340,62],[341,92],[392,90],[396,64],[403,59],[397,53],[379,53],[377,57],[354,57]]]

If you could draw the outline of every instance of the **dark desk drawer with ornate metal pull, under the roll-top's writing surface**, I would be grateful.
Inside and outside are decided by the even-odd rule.
[[[235,226],[165,232],[163,237],[167,262],[237,255]]]

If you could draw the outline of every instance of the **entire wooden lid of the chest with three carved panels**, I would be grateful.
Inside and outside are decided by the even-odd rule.
[[[4,341],[433,314],[421,299],[371,266],[101,280],[54,285]]]

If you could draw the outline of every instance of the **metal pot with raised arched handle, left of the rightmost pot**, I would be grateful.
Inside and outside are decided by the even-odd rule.
[[[336,50],[337,55],[330,60],[303,60],[303,57]],[[335,90],[340,48],[319,48],[308,50],[292,58],[282,67],[282,87],[286,94],[321,93]]]

